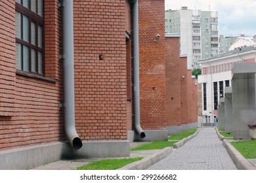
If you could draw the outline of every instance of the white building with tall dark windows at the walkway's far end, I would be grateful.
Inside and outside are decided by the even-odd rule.
[[[239,41],[238,41],[239,42]],[[217,109],[224,97],[226,86],[231,86],[234,63],[253,63],[256,58],[255,45],[234,44],[233,50],[217,54],[211,58],[202,59],[200,68],[202,75],[198,76],[198,84],[202,84],[202,114],[203,122],[214,124]],[[242,43],[243,41],[241,41]]]

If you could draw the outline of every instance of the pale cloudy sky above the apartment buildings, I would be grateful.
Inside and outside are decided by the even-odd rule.
[[[217,11],[219,16],[219,35],[256,35],[256,0],[165,0],[165,10]]]

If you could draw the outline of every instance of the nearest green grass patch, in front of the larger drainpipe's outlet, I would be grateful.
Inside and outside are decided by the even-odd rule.
[[[143,158],[103,159],[77,167],[77,170],[116,170],[140,159]]]

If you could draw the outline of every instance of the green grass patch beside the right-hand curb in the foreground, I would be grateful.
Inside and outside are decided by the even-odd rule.
[[[244,158],[256,159],[256,141],[239,141],[231,142],[231,144]]]

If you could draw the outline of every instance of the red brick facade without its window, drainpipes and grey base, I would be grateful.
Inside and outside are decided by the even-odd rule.
[[[66,141],[60,105],[62,9],[57,0],[45,0],[45,76],[28,75],[16,71],[14,2],[0,2],[0,150]],[[191,74],[186,58],[179,58],[179,40],[165,42],[164,16],[163,0],[139,1],[140,124],[144,130],[188,124],[192,113],[188,110],[192,82],[190,87],[187,81]],[[128,0],[74,1],[74,56],[79,137],[82,141],[126,140],[127,131],[133,130]]]

